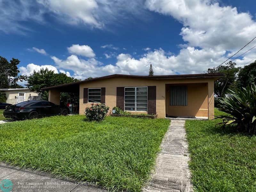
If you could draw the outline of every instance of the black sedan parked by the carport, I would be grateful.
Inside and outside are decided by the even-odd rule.
[[[69,109],[49,101],[30,100],[7,107],[3,114],[6,118],[33,119],[43,116],[68,115]]]

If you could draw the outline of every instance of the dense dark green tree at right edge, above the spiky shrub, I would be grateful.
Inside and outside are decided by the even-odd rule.
[[[256,61],[244,66],[237,76],[237,85],[239,87],[247,87],[247,85],[253,83],[256,84]]]

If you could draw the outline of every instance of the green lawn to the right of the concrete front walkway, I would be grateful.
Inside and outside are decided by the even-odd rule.
[[[223,131],[219,122],[186,121],[195,191],[256,191],[256,136]]]

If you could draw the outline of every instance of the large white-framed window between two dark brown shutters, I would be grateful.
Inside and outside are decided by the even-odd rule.
[[[148,111],[148,87],[125,87],[124,110]]]

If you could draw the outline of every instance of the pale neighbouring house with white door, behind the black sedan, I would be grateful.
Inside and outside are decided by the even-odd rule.
[[[32,92],[28,88],[0,89],[0,92],[3,92],[6,94],[6,97],[7,97],[6,103],[10,103],[12,105],[28,100],[29,96],[38,96],[36,92]]]

